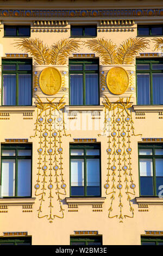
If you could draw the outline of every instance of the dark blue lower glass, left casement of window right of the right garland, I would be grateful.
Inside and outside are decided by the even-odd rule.
[[[140,177],[140,194],[141,196],[153,196],[153,177]]]

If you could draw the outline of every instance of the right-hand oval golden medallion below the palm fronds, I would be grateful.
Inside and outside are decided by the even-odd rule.
[[[129,76],[126,70],[120,67],[111,68],[106,76],[106,84],[113,94],[126,92],[129,84]]]

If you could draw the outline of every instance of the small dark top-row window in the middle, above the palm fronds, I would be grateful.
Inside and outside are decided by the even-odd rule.
[[[71,36],[92,37],[97,36],[97,26],[71,26]]]

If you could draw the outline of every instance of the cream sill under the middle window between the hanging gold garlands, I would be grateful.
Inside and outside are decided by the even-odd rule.
[[[66,203],[68,205],[93,205],[103,204],[105,197],[66,197]]]

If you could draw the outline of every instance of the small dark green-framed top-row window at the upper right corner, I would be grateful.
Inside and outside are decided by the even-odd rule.
[[[159,31],[161,31],[161,33],[153,32],[153,29],[157,29],[157,28],[160,28]],[[140,32],[141,29],[146,29],[146,32],[141,33]],[[161,36],[161,35],[163,35],[163,25],[137,25],[137,36]]]

